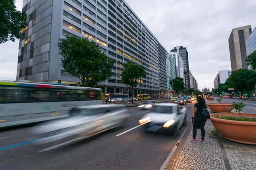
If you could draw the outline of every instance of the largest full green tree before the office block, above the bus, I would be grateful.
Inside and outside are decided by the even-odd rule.
[[[99,45],[87,38],[66,36],[58,41],[62,66],[69,74],[81,80],[84,87],[96,87],[111,77],[113,59],[101,52]]]

